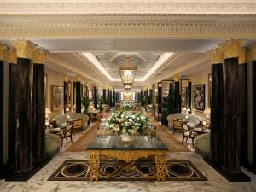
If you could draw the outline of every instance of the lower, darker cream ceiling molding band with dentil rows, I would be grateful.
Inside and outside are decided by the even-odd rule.
[[[126,37],[255,38],[256,15],[0,15],[0,38]]]

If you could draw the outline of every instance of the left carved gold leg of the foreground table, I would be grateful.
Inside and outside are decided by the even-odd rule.
[[[99,165],[100,165],[100,152],[90,151],[89,152],[89,165],[90,165],[90,180],[99,180]]]

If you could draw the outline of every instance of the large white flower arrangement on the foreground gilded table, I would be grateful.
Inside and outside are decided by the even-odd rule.
[[[112,130],[119,135],[144,135],[150,130],[150,118],[143,116],[141,113],[119,111],[112,113],[108,118],[106,129]]]

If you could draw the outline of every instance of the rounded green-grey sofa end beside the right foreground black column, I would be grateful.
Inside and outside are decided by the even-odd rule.
[[[195,152],[202,157],[210,154],[210,133],[201,134],[195,137]]]

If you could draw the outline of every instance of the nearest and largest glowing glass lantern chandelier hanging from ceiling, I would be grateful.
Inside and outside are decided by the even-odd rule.
[[[126,56],[125,63],[119,63],[119,74],[126,91],[131,90],[137,71],[136,63],[130,63],[129,55]]]

